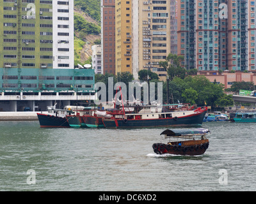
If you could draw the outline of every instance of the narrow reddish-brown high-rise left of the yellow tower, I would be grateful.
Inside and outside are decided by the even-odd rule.
[[[115,0],[101,1],[102,73],[116,73]]]

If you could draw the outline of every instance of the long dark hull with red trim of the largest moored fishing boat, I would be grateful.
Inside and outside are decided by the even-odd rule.
[[[192,127],[201,125],[207,108],[204,111],[184,117],[163,119],[103,119],[106,128],[167,128]]]

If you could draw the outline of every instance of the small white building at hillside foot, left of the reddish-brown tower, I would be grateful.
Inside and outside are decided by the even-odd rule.
[[[92,46],[92,69],[95,70],[95,74],[103,74],[101,66],[101,45]]]

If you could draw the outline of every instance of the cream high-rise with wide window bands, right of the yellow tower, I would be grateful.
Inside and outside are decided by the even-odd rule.
[[[133,27],[133,33],[138,33],[137,69],[149,69],[160,78],[166,78],[166,70],[159,67],[159,61],[165,61],[171,52],[170,7],[170,0],[139,1],[137,17],[133,15],[138,20],[138,27]]]

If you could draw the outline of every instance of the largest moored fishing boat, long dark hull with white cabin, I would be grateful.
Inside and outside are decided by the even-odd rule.
[[[168,111],[168,108],[166,108]],[[103,118],[105,128],[163,128],[202,125],[207,106],[195,110],[166,112],[161,106],[134,106],[133,113],[120,112]],[[109,112],[111,115],[111,112]]]

